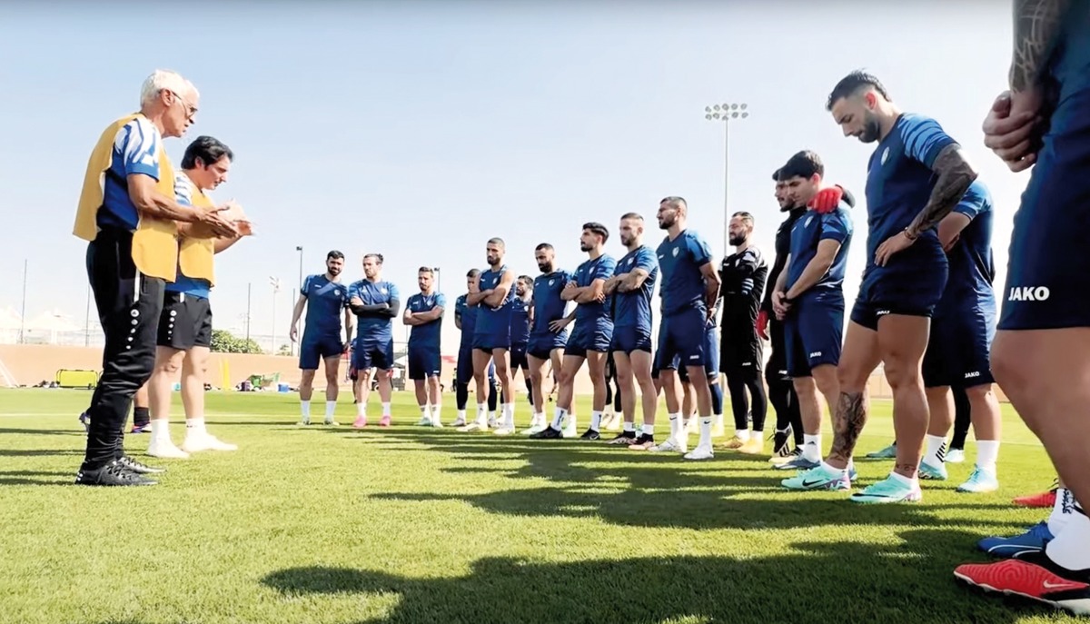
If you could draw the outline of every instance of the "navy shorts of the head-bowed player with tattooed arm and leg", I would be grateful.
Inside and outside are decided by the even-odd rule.
[[[930,317],[943,298],[948,273],[938,239],[933,233],[921,236],[886,266],[867,267],[851,322],[877,331],[879,319],[886,314]]]

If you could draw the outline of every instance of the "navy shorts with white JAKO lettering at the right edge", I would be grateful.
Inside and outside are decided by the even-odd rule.
[[[1010,235],[1000,329],[1090,326],[1090,88],[1052,113]]]

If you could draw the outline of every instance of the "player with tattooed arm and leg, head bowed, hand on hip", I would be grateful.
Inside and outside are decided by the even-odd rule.
[[[919,501],[917,470],[929,418],[920,362],[947,275],[935,226],[965,195],[977,171],[937,122],[903,113],[868,73],[844,77],[826,108],[845,136],[877,142],[877,147],[867,179],[867,268],[844,338],[833,448],[806,479],[834,479],[834,472],[848,468],[867,422],[867,383],[882,362],[893,389],[897,460],[887,479],[851,500]]]

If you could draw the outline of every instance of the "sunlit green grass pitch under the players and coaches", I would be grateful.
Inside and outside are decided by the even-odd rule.
[[[169,468],[152,488],[77,488],[75,416],[88,398],[0,392],[2,622],[1068,620],[983,598],[952,575],[986,559],[979,538],[1044,517],[1009,502],[1053,479],[1010,411],[997,493],[954,491],[970,442],[969,461],[925,484],[922,503],[859,506],[845,493],[782,490],[785,473],[763,457],[723,451],[693,465],[423,430],[405,393],[393,428],[365,432],[344,425],[348,401],[341,428],[300,429],[294,395],[213,393],[209,428],[240,451],[152,461]],[[862,452],[891,439],[888,405],[874,407]],[[146,444],[126,436],[137,458]],[[858,463],[864,484],[889,467]]]

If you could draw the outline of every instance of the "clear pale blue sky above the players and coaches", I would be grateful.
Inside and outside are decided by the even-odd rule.
[[[771,173],[802,148],[860,199],[863,229],[873,146],[844,139],[824,108],[860,67],[968,148],[997,202],[1002,286],[1028,175],[1006,171],[980,124],[1009,50],[1009,3],[984,0],[4,4],[0,308],[19,309],[29,259],[27,316],[57,309],[82,324],[85,244],[71,229],[86,159],[156,68],[202,94],[171,155],[202,133],[228,143],[237,160],[215,197],[239,200],[257,224],[258,236],[218,257],[220,327],[241,327],[253,283],[253,332],[270,333],[271,275],[284,284],[276,333],[286,334],[295,245],[306,273],[343,251],[347,280],[362,277],[364,252],[380,252],[405,297],[420,265],[440,266],[452,301],[492,236],[520,273],[536,273],[542,241],[574,267],[583,221],[616,228],[620,214],[652,217],[679,194],[720,255],[723,129],[703,112],[717,101],[752,113],[731,127],[729,207],[756,215],[762,248],[771,254],[780,220]],[[863,266],[857,241],[849,297]],[[616,238],[608,247],[622,253]]]

